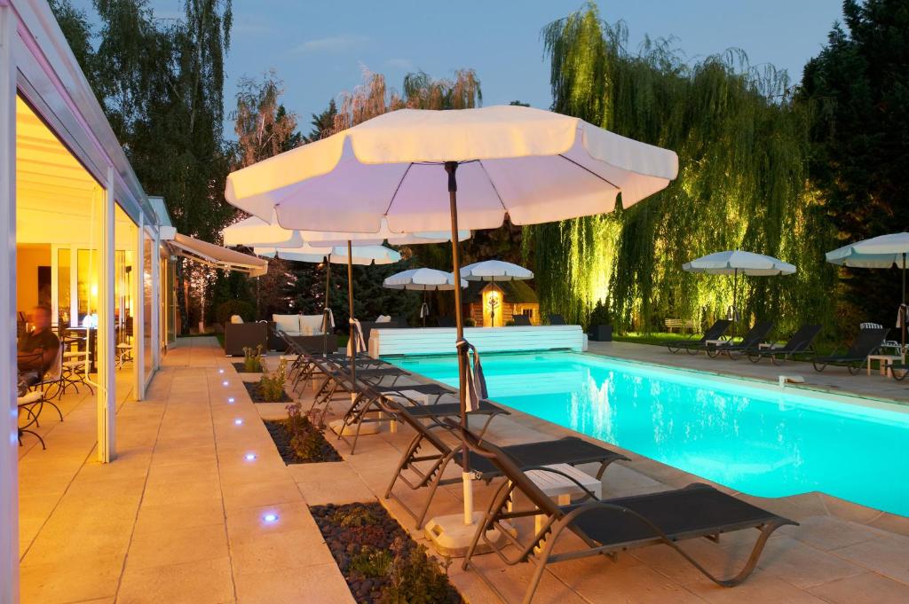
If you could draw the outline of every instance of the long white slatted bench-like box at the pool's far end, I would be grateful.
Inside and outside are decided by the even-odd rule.
[[[391,354],[446,354],[454,352],[454,327],[373,329],[369,354],[373,358]],[[523,352],[567,349],[586,350],[587,338],[580,325],[538,325],[530,327],[467,327],[464,338],[480,352]]]

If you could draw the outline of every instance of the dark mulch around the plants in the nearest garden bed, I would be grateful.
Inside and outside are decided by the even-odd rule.
[[[409,559],[418,547],[415,540],[411,539],[407,531],[375,501],[345,505],[329,503],[310,506],[309,510],[357,603],[377,604],[382,601],[383,589],[389,587],[390,579],[388,577],[365,577],[352,568],[352,560],[357,557],[364,546],[373,550],[392,551],[392,544],[395,543],[395,540],[400,540],[400,544],[403,546],[402,558]],[[369,520],[350,522],[349,520],[352,518]],[[342,522],[345,522],[347,526]],[[432,564],[435,565],[435,563]],[[464,599],[444,576],[445,571],[441,567],[437,568],[438,573],[442,576],[435,582],[435,589],[432,591],[421,589],[419,601],[432,601],[439,604],[463,603]],[[407,570],[405,569],[402,574],[408,574]]]

